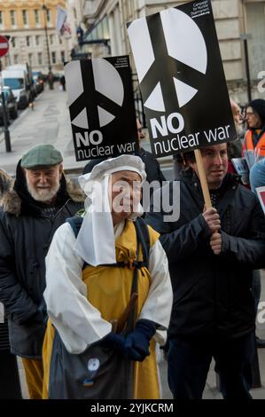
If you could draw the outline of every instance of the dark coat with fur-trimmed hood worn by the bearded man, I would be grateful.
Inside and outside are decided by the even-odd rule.
[[[12,353],[41,358],[46,309],[45,256],[58,226],[83,207],[82,191],[63,176],[56,214],[43,214],[29,193],[20,165],[12,186],[0,173],[0,301],[9,321]]]

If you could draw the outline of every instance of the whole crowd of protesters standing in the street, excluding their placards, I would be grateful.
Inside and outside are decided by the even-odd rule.
[[[237,143],[201,151],[212,207],[194,153],[184,153],[175,160],[174,221],[161,202],[166,193],[170,207],[177,203],[174,182],[163,185],[158,161],[141,146],[90,162],[80,186],[51,145],[25,153],[14,181],[0,172],[0,302],[9,327],[0,359],[7,350],[22,358],[30,398],[160,398],[157,350],[165,345],[174,398],[202,397],[212,358],[222,396],[251,398],[253,271],[265,267],[256,196],[265,185],[265,101],[243,114],[231,107]],[[140,142],[139,121],[137,130]],[[240,153],[253,153],[249,186],[230,165]],[[146,179],[163,193],[144,213]],[[0,383],[9,384],[4,363]]]

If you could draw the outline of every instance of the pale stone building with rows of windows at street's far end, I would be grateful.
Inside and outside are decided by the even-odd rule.
[[[54,73],[62,72],[63,62],[70,59],[75,31],[72,28],[72,35],[59,36],[55,24],[57,5],[66,9],[67,3],[64,0],[0,0],[0,34],[11,36],[9,53],[2,59],[3,67],[27,63],[43,74],[48,73],[49,65]]]

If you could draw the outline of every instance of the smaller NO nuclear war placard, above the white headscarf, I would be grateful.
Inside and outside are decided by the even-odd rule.
[[[129,57],[73,60],[65,75],[76,161],[135,153]]]

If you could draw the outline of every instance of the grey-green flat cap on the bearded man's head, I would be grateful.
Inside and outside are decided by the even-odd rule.
[[[38,145],[29,149],[21,159],[22,168],[48,167],[63,161],[62,154],[52,145]]]

